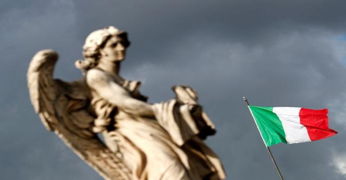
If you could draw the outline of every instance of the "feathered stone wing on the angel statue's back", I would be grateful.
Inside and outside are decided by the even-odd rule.
[[[91,131],[94,116],[87,109],[89,91],[85,79],[67,83],[52,78],[57,59],[53,50],[39,51],[27,74],[31,102],[43,125],[54,131],[104,179],[132,180],[121,157]]]

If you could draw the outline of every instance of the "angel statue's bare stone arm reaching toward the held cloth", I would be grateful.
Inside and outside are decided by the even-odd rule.
[[[129,91],[117,84],[110,75],[101,70],[89,70],[87,72],[87,84],[101,98],[117,106],[120,110],[134,115],[154,115],[150,104],[132,98]]]

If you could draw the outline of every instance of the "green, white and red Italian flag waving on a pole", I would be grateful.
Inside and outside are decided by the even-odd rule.
[[[267,147],[303,143],[337,134],[328,127],[328,109],[249,106]]]

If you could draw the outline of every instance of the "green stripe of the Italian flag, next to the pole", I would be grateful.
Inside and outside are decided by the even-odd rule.
[[[267,147],[281,142],[286,143],[284,128],[272,107],[249,106],[249,108]]]

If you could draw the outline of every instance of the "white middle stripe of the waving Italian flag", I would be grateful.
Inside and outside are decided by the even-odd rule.
[[[287,144],[311,141],[306,127],[301,124],[301,108],[274,107],[273,112],[279,117],[284,128]]]

